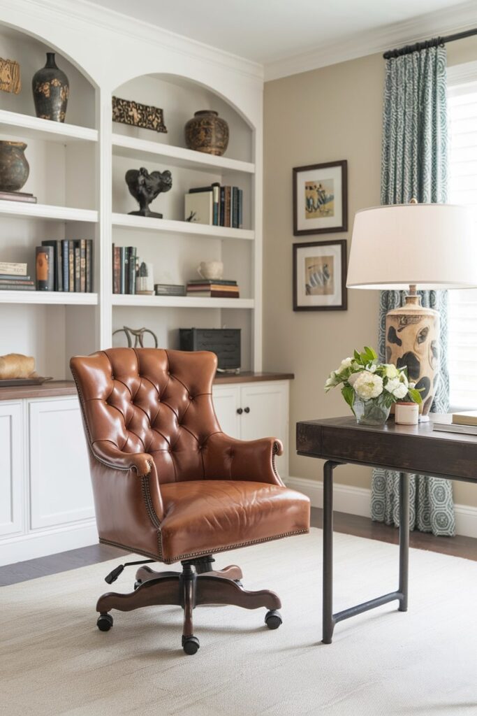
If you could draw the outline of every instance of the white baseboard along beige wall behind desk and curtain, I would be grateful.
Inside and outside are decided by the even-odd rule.
[[[307,495],[312,507],[323,507],[323,483],[308,478],[286,478],[287,485],[293,490]],[[371,490],[353,488],[350,485],[333,486],[333,507],[338,512],[350,515],[370,517]],[[454,505],[456,514],[456,533],[477,538],[477,508],[469,505]]]

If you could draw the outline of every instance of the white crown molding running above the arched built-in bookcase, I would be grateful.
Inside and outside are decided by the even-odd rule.
[[[0,7],[4,6],[4,9],[7,9],[10,3],[11,0],[0,0]],[[15,9],[18,10],[21,6],[24,6],[24,11],[27,14],[34,13],[44,17],[47,13],[52,21],[56,19],[68,26],[75,26],[78,22],[87,26],[93,25],[108,32],[124,35],[129,39],[134,38],[139,42],[148,42],[156,47],[159,45],[171,52],[208,62],[215,67],[219,65],[225,70],[241,74],[260,84],[263,82],[262,64],[123,15],[116,10],[103,8],[88,0],[16,0]],[[8,14],[4,16],[6,17]]]

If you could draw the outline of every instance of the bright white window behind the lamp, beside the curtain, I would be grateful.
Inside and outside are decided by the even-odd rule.
[[[477,241],[477,82],[448,89],[448,112],[448,201],[476,210]],[[477,289],[448,295],[451,410],[477,410]]]

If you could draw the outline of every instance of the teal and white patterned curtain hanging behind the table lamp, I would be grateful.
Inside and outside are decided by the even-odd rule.
[[[447,198],[446,48],[425,47],[386,60],[381,203],[443,203]],[[448,412],[447,293],[420,291],[423,306],[441,314],[441,375],[431,410]],[[403,291],[380,296],[379,352],[385,360],[385,314],[402,306]],[[374,470],[371,517],[399,525],[399,473]],[[435,535],[456,532],[452,483],[410,478],[410,528]]]

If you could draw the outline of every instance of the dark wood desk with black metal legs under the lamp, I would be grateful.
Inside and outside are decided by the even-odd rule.
[[[436,418],[439,416],[436,415]],[[408,609],[409,475],[418,473],[477,483],[477,437],[433,431],[432,422],[382,427],[357,425],[354,417],[297,422],[297,453],[326,460],[323,466],[323,643],[335,624],[397,600]],[[400,473],[399,583],[396,591],[333,614],[333,470],[351,463]]]

